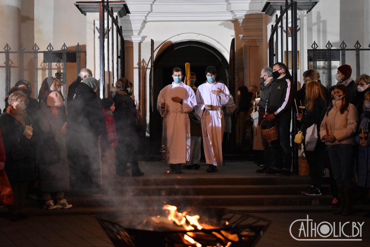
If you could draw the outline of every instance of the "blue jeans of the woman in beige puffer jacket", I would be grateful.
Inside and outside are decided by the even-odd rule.
[[[354,165],[353,145],[328,145],[330,164],[338,187],[352,187],[352,166]]]

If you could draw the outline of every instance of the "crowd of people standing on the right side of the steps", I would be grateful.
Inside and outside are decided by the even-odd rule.
[[[290,129],[291,122],[297,120],[298,128],[292,131],[297,133],[300,129],[302,132],[303,152],[311,178],[311,186],[302,194],[322,195],[323,169],[328,168],[333,194],[330,206],[338,208],[334,214],[342,216],[352,213],[356,185],[366,188],[367,193],[370,188],[367,138],[370,128],[370,77],[362,74],[354,80],[351,74],[350,65],[338,67],[335,75],[337,84],[328,91],[321,84],[319,72],[307,70],[303,73],[304,84],[295,95],[293,87],[297,85],[292,84],[285,64],[277,62],[273,68],[262,68],[259,97],[252,97],[243,106],[240,106],[243,101],[239,101],[239,108],[252,112],[250,117],[258,121],[259,126],[253,125],[253,132],[277,126],[275,140],[268,142],[263,135],[260,137],[265,159],[264,165],[256,172],[280,176],[291,174]],[[242,92],[240,88],[239,91]],[[292,119],[292,108],[296,112],[295,119]],[[259,138],[257,134],[253,136]],[[259,141],[255,139],[253,143]]]

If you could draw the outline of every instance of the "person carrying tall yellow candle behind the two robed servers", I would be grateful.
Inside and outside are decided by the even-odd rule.
[[[187,78],[185,78],[185,81],[186,79]],[[194,72],[190,72],[190,83],[191,88],[194,90],[194,94],[196,94],[196,90],[198,89],[195,87],[195,82],[196,74]],[[193,109],[188,113],[190,119],[190,159],[189,161],[186,161],[184,168],[198,170],[201,168],[199,162],[201,159],[202,126],[201,121],[197,118],[197,115],[194,114],[194,112],[195,110]]]

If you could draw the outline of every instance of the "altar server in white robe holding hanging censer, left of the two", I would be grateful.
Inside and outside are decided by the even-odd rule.
[[[188,112],[196,106],[194,91],[181,79],[181,68],[172,70],[174,81],[158,95],[157,109],[164,118],[167,162],[171,172],[182,173],[181,164],[190,158],[190,122]]]

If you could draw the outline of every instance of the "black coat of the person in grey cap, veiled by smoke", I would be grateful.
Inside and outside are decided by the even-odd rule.
[[[97,94],[87,84],[80,83],[76,87],[73,100],[74,110],[70,118],[79,128],[87,129],[95,136],[101,135],[104,129],[102,108]]]

